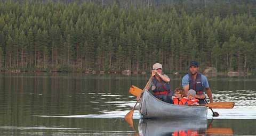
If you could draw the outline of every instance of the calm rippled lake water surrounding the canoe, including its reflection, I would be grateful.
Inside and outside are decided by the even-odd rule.
[[[0,73],[0,135],[256,135],[256,78],[209,78],[214,101],[235,101],[220,116],[193,121],[141,120],[134,128],[124,115],[136,99],[128,90],[143,88],[148,75],[77,73]],[[181,76],[171,77],[172,89]],[[212,120],[213,118],[213,120]]]

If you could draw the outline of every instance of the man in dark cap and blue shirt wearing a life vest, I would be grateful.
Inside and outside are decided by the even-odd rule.
[[[188,90],[193,89],[196,91],[195,98],[199,99],[199,104],[205,104],[205,94],[213,102],[212,91],[209,87],[207,77],[198,72],[199,64],[196,61],[191,61],[189,64],[189,73],[182,78],[182,87],[187,94]]]

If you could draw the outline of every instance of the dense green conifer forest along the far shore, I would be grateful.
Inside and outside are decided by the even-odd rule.
[[[219,71],[256,68],[253,3],[3,1],[0,13],[1,70],[141,72],[159,62],[171,72],[191,60]]]

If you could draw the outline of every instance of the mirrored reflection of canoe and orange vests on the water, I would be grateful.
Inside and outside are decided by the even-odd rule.
[[[146,120],[139,121],[140,135],[201,135],[207,120]]]

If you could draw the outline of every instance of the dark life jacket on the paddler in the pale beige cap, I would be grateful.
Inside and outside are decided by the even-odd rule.
[[[161,92],[161,91],[167,91],[167,93],[169,93],[171,91],[171,86],[168,82],[165,82],[163,80],[161,80],[161,82],[159,82],[156,77],[152,78],[152,81],[156,87],[155,90],[153,90],[153,92]]]

